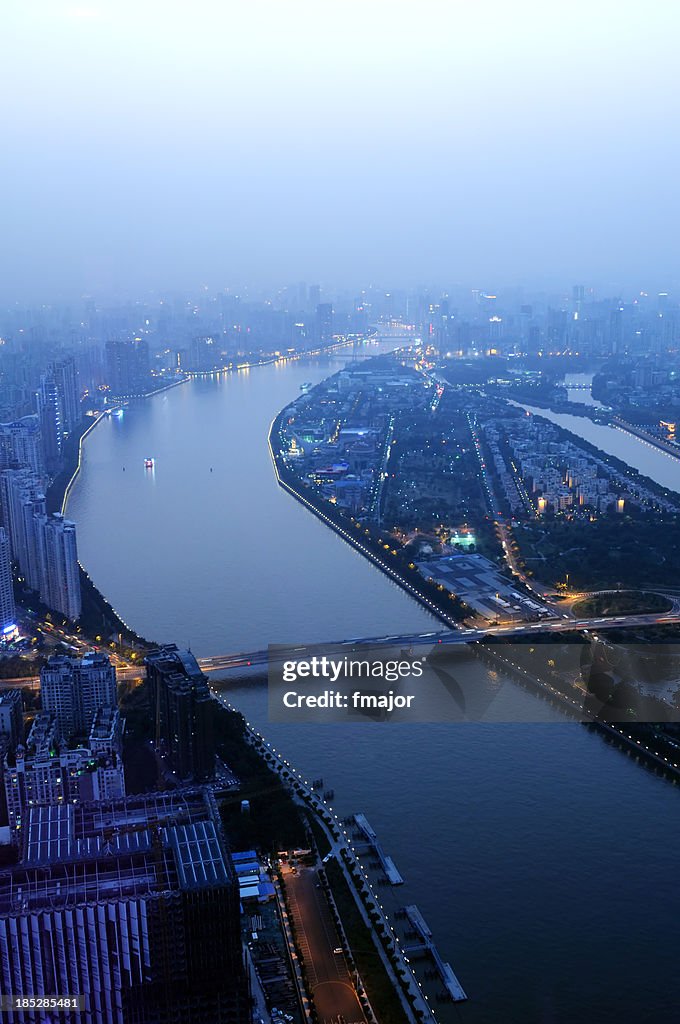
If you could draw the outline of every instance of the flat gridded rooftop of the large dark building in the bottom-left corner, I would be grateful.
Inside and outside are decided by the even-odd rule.
[[[230,886],[208,790],[34,807],[20,865],[0,873],[0,913]]]

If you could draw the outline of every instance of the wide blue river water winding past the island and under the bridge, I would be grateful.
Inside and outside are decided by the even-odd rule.
[[[274,481],[270,420],[345,358],[196,380],[88,437],[69,514],[83,564],[139,633],[209,655],[430,627]],[[668,466],[611,433],[649,475]],[[677,1019],[678,787],[575,723],[285,726],[264,689],[230,699],[334,786],[339,813],[367,814],[406,879],[390,905],[418,903],[470,996],[442,1017]]]

